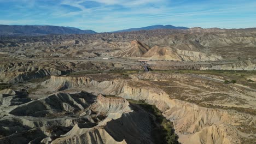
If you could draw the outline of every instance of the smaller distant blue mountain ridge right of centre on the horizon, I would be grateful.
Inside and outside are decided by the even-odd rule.
[[[129,29],[123,29],[120,31],[114,31],[114,32],[132,32],[132,31],[141,31],[141,30],[153,30],[153,29],[189,29],[188,27],[176,27],[172,25],[154,25],[154,26],[148,26],[148,27],[141,27],[141,28],[129,28]]]

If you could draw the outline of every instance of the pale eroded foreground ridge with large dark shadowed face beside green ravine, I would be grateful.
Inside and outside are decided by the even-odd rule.
[[[91,109],[106,119],[93,128],[77,124],[52,143],[153,143],[149,115],[133,111],[127,100],[99,95]]]

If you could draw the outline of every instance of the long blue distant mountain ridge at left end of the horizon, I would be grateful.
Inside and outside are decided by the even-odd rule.
[[[44,35],[44,34],[94,34],[92,30],[74,27],[39,26],[39,25],[0,25],[0,34],[7,35]]]

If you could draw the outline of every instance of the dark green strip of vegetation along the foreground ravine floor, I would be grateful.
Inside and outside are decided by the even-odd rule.
[[[127,99],[131,104],[136,104],[155,117],[154,138],[156,143],[178,144],[178,136],[174,133],[173,123],[168,121],[155,105],[149,105],[144,100]]]

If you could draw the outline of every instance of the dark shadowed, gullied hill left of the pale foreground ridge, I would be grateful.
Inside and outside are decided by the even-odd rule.
[[[94,96],[88,93],[56,93],[46,98],[19,105],[10,111],[16,116],[44,117],[61,112],[75,113],[94,103]]]

